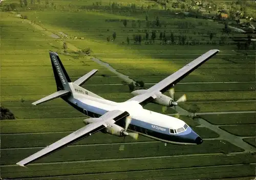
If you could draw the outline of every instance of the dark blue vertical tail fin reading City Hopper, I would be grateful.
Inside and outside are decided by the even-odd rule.
[[[50,58],[52,62],[52,69],[56,81],[57,91],[66,90],[71,91],[69,83],[71,80],[64,66],[62,65],[57,53],[50,52]]]

